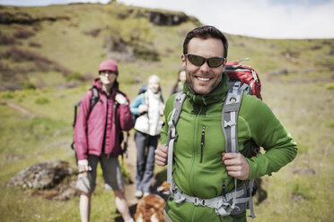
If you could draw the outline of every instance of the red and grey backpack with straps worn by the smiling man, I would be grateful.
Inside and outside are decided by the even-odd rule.
[[[247,93],[262,99],[260,94],[261,83],[259,75],[251,66],[239,64],[239,62],[227,62],[225,71],[230,78],[228,81],[229,90],[226,94],[224,106],[222,109],[222,130],[225,138],[226,152],[239,152],[238,150],[238,136],[237,136],[237,119],[239,109],[242,103],[242,94]],[[188,196],[180,192],[180,189],[172,182],[172,155],[173,143],[178,138],[176,132],[176,124],[178,123],[180,112],[186,94],[180,91],[173,104],[171,119],[168,123],[168,160],[167,160],[167,182],[171,183],[171,193],[174,201],[190,201],[195,205],[207,206],[215,209],[215,213],[221,216],[240,214],[245,209],[251,209],[251,217],[255,218],[252,195],[255,194],[254,182],[255,179],[247,180],[240,188],[236,188],[237,179],[234,178],[234,191],[226,193],[224,196],[215,197],[213,199],[199,199],[197,197]],[[259,146],[254,144],[252,156],[257,155]],[[224,184],[223,184],[224,190]]]

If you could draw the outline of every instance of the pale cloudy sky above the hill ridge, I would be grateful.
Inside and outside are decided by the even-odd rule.
[[[0,4],[47,5],[109,0],[0,0]],[[334,0],[118,0],[180,11],[223,32],[258,38],[334,38]]]

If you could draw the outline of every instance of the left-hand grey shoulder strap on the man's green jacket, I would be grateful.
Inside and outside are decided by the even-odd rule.
[[[180,112],[182,110],[182,105],[184,99],[186,98],[186,94],[180,91],[175,99],[174,99],[174,106],[171,113],[171,119],[168,122],[168,135],[167,135],[167,142],[166,145],[168,146],[168,160],[167,160],[167,182],[171,183],[171,170],[172,170],[172,153],[173,153],[173,146],[174,141],[178,139],[178,133],[176,132],[176,124],[180,118]]]

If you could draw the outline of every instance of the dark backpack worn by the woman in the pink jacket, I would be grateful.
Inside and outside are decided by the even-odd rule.
[[[89,102],[89,112],[88,112],[88,115],[87,115],[87,118],[88,116],[91,114],[92,112],[92,108],[96,105],[96,103],[100,100],[100,94],[99,94],[99,90],[93,86],[91,88],[91,91],[92,91],[92,97],[90,99],[90,102]],[[76,115],[77,115],[77,110],[78,110],[78,107],[80,107],[81,105],[81,101],[77,102],[75,104],[75,115],[74,115],[74,119],[73,119],[73,128],[75,129],[75,123],[76,123]],[[114,107],[114,109],[116,110],[116,107]],[[128,137],[129,137],[129,132],[127,132],[127,138],[126,140],[124,141],[124,144],[123,144],[123,149],[122,150],[122,153],[121,153],[121,156],[123,158],[123,155],[125,154],[126,157],[127,157],[127,141],[128,141]],[[124,140],[124,135],[123,135],[123,132],[121,132],[119,134],[119,142],[122,143],[122,141]],[[75,150],[75,140],[72,141],[71,143],[71,148]],[[77,157],[76,157],[76,151],[75,151],[75,161],[76,161],[76,164],[77,164]]]

